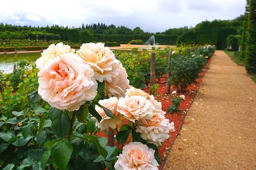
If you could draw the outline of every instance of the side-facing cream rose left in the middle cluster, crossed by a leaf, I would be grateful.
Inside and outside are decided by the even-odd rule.
[[[116,111],[118,104],[118,99],[116,97],[110,97],[109,99],[100,100],[99,104],[111,110],[114,117],[108,117],[102,108],[100,108],[99,106],[95,106],[95,110],[99,113],[100,117],[102,118],[100,122],[96,123],[97,127],[99,127],[102,130],[107,129],[107,127],[110,127],[111,129],[116,129],[117,125],[122,124],[122,115],[120,115]]]

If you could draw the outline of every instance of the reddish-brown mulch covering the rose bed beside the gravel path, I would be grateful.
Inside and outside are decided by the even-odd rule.
[[[210,62],[211,62],[211,59],[208,60],[206,66],[205,66],[205,69],[209,66]],[[187,92],[178,93],[179,95],[183,94],[186,97],[185,101],[183,101],[179,106],[179,113],[170,114],[167,112],[168,108],[172,105],[172,102],[171,102],[172,95],[166,94],[166,92],[167,92],[167,85],[166,85],[167,77],[166,77],[166,75],[164,75],[160,79],[160,82],[158,82],[158,79],[156,78],[156,83],[159,83],[159,88],[156,90],[156,92],[154,94],[155,99],[157,99],[157,101],[161,101],[162,110],[166,111],[165,117],[168,118],[170,120],[170,122],[174,122],[174,126],[175,126],[175,132],[170,132],[170,138],[168,140],[164,141],[163,146],[161,146],[159,148],[159,157],[161,160],[161,165],[158,166],[159,169],[162,169],[162,167],[164,166],[166,157],[172,148],[175,138],[176,138],[177,134],[179,134],[179,130],[180,130],[182,124],[185,123],[184,118],[185,118],[186,113],[188,112],[191,104],[193,103],[193,99],[195,98],[196,92],[198,91],[198,89],[200,87],[202,78],[205,75],[205,69],[202,69],[201,73],[199,74],[200,77],[196,80],[196,83],[189,85]],[[146,88],[143,90],[145,92],[147,92],[148,94],[150,94],[149,88]],[[171,92],[173,90],[176,90],[176,89],[175,89],[175,87],[172,86]],[[125,124],[125,123],[127,124],[127,122],[124,122],[123,124]],[[103,131],[101,131],[98,135],[108,138],[108,136]],[[127,141],[128,141],[127,143],[129,143],[129,141],[131,141],[131,136],[129,137],[129,139]],[[116,140],[115,140],[115,146],[118,146],[118,148],[122,148],[122,145],[118,145]]]

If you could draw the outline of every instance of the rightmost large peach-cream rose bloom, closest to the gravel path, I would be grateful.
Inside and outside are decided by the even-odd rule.
[[[163,113],[158,111],[152,118],[142,118],[136,124],[136,132],[140,133],[141,138],[156,146],[161,146],[161,143],[170,137],[171,131],[175,131],[174,123],[169,123]]]

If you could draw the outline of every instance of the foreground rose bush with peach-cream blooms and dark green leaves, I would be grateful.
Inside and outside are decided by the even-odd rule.
[[[157,146],[173,123],[153,96],[129,85],[108,47],[88,43],[75,52],[58,43],[44,50],[36,67],[20,74],[17,95],[13,88],[1,92],[4,103],[12,97],[1,108],[8,111],[0,117],[1,168],[157,169]],[[107,145],[99,131],[116,135],[123,151]]]

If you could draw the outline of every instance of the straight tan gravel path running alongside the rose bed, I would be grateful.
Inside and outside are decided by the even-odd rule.
[[[256,84],[216,51],[163,169],[256,169]]]

